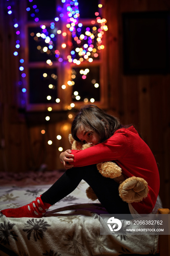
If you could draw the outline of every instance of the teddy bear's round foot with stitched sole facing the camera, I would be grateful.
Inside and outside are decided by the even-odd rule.
[[[147,197],[148,185],[143,178],[130,177],[119,185],[119,196],[127,203],[140,202]]]

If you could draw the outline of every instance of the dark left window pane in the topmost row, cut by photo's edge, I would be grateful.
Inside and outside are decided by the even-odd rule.
[[[28,11],[28,20],[35,18],[39,20],[54,20],[55,18],[55,0],[36,0],[31,3],[27,1],[30,11]]]

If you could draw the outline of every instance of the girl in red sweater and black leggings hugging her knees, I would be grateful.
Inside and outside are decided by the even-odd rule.
[[[72,136],[92,147],[62,152],[60,160],[66,172],[61,178],[35,201],[23,207],[2,210],[2,214],[15,218],[40,218],[51,205],[71,193],[82,179],[92,187],[109,214],[152,212],[159,192],[157,163],[133,126],[123,127],[116,117],[95,105],[87,105],[73,121]],[[148,196],[138,203],[123,202],[118,192],[119,184],[103,177],[96,168],[96,163],[104,161],[115,161],[126,178],[144,178],[148,182]]]

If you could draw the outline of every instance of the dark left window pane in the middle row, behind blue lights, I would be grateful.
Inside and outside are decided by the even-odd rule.
[[[29,27],[28,28],[28,44],[29,44],[29,61],[46,61],[50,59],[51,61],[55,61],[55,49],[56,49],[56,31],[54,29],[50,29],[50,27],[47,27],[47,32],[43,32],[40,27]],[[49,44],[45,42],[45,39],[42,37],[37,37],[37,33],[44,33],[46,36],[49,36],[51,34],[54,34],[55,37],[51,38],[51,41],[53,44],[52,49],[49,49]],[[43,48],[47,47],[47,52],[43,51]],[[50,46],[51,47],[51,46]]]

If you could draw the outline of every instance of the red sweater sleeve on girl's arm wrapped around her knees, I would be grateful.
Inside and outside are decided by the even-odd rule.
[[[117,132],[103,143],[84,150],[72,150],[74,167],[93,165],[122,158],[128,151],[129,140],[125,132]]]

